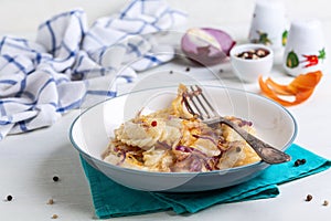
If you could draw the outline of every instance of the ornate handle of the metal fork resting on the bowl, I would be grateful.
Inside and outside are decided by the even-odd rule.
[[[275,147],[270,146],[269,144],[258,139],[257,137],[253,136],[245,129],[241,128],[233,122],[220,117],[221,124],[226,124],[231,128],[233,128],[236,133],[243,137],[247,144],[256,151],[256,154],[267,164],[275,165],[289,161],[291,157],[284,151],[276,149]]]

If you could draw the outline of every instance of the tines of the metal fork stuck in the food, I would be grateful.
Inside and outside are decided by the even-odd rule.
[[[202,88],[197,85],[188,87],[188,96],[184,96],[184,99],[189,112],[202,120],[216,118],[218,116],[214,107],[202,93]]]

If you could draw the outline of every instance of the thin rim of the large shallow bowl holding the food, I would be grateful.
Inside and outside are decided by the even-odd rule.
[[[287,108],[285,108],[284,106],[281,106],[277,102],[275,102],[275,101],[273,101],[273,99],[270,99],[268,97],[261,96],[259,94],[256,94],[256,93],[253,93],[253,92],[247,92],[247,91],[244,91],[244,90],[238,90],[238,88],[233,88],[233,87],[227,87],[227,86],[220,86],[220,85],[217,86],[217,85],[205,85],[205,84],[202,84],[201,86],[202,87],[210,87],[210,88],[229,90],[229,91],[235,91],[235,92],[239,92],[239,93],[247,93],[247,94],[249,94],[252,96],[257,96],[259,98],[264,98],[267,102],[273,103],[274,105],[278,106],[280,109],[282,109],[290,117],[290,119],[293,123],[293,133],[292,133],[290,139],[287,141],[287,144],[284,145],[284,147],[282,147],[281,150],[285,151],[286,149],[288,149],[293,144],[293,140],[296,139],[297,134],[298,134],[298,124],[297,124],[297,120],[295,119],[293,115]],[[146,91],[151,91],[151,90],[160,90],[160,88],[170,88],[170,87],[175,87],[175,86],[172,85],[172,86],[150,87],[150,88],[145,88],[145,90],[138,90],[138,91],[135,91],[134,93],[146,92]],[[200,172],[156,172],[156,171],[146,171],[146,170],[138,170],[138,169],[130,169],[130,168],[119,167],[119,166],[113,165],[110,162],[106,162],[105,160],[98,159],[98,158],[94,157],[93,155],[89,155],[88,152],[84,151],[75,143],[75,138],[73,136],[74,127],[75,127],[76,123],[79,120],[79,118],[83,115],[85,115],[86,113],[88,113],[92,108],[95,108],[98,105],[102,105],[102,104],[104,104],[106,102],[109,102],[109,101],[118,98],[118,97],[127,96],[129,94],[131,94],[131,92],[124,93],[124,94],[118,95],[116,97],[110,97],[110,98],[107,98],[105,101],[98,102],[98,103],[92,105],[90,107],[86,108],[84,112],[82,112],[72,122],[72,124],[70,126],[68,136],[70,136],[70,140],[71,140],[72,145],[79,152],[79,155],[85,155],[86,157],[90,158],[93,161],[97,161],[97,164],[100,164],[100,165],[103,165],[105,167],[111,167],[111,168],[115,168],[115,169],[120,170],[120,171],[130,172],[130,173],[142,173],[142,175],[148,175],[148,176],[166,176],[166,177],[211,176],[211,175],[220,175],[220,173],[227,173],[227,172],[236,172],[238,170],[243,170],[243,169],[246,169],[246,168],[254,168],[254,167],[260,167],[263,165],[268,165],[265,161],[260,160],[260,161],[252,162],[252,164],[239,166],[239,167],[226,168],[226,169],[221,169],[221,170],[212,170],[212,171],[203,171],[203,172],[201,172],[201,171]]]

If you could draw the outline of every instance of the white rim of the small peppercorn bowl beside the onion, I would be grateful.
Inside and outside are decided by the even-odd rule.
[[[249,49],[265,49],[269,52],[269,54],[267,56],[260,57],[260,59],[242,59],[236,56],[237,53],[243,52],[245,50],[249,50]],[[265,44],[255,44],[255,43],[246,43],[246,44],[237,44],[235,46],[233,46],[229,51],[229,57],[232,60],[236,60],[236,61],[241,61],[241,62],[245,62],[245,63],[257,63],[257,62],[264,62],[264,61],[273,61],[274,57],[274,50],[270,46],[267,46]]]

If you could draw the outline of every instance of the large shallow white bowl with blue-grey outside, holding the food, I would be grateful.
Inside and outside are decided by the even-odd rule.
[[[292,144],[297,135],[297,124],[282,106],[244,91],[220,86],[202,87],[220,114],[252,120],[258,137],[281,150]],[[162,98],[153,99],[148,108],[160,108],[169,105],[175,92],[174,86],[145,90],[99,103],[73,122],[70,130],[71,141],[89,165],[114,181],[146,191],[189,192],[220,189],[247,181],[269,166],[259,161],[209,172],[149,172],[121,168],[102,160],[109,138],[114,136],[114,128],[134,117],[151,96],[158,95]]]

